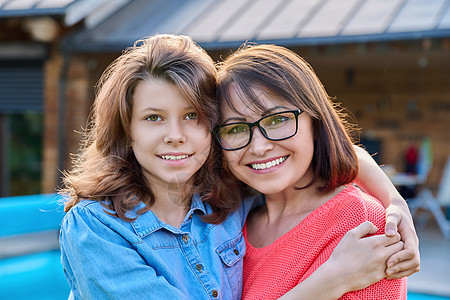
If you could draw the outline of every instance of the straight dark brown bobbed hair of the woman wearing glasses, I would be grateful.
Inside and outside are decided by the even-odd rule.
[[[320,190],[330,191],[355,179],[358,162],[347,133],[351,126],[304,59],[280,46],[247,45],[219,66],[219,106],[236,110],[231,99],[237,96],[249,108],[261,111],[267,109],[258,98],[261,93],[298,107],[312,119],[315,174],[309,184],[300,188],[320,179]]]

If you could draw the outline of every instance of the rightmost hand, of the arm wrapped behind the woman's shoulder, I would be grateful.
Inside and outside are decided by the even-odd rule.
[[[386,236],[398,233],[404,242],[404,249],[393,254],[387,261],[388,279],[397,279],[420,270],[419,239],[408,206],[403,199],[391,200],[386,209]]]

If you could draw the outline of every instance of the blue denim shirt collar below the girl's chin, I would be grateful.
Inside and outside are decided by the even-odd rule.
[[[184,225],[190,221],[195,211],[198,210],[203,214],[206,214],[205,204],[203,203],[198,194],[194,194],[192,196],[191,208],[186,214],[186,217],[184,218],[180,229],[162,222],[151,210],[145,212],[142,215],[137,216],[136,211],[138,211],[143,207],[145,207],[145,204],[143,202],[140,202],[139,205],[137,205],[133,211],[127,213],[127,217],[130,218],[137,217],[136,220],[134,220],[134,222],[131,223],[131,226],[134,228],[136,234],[141,238],[163,228],[174,234],[185,233],[186,230],[183,229],[186,228],[186,226]]]

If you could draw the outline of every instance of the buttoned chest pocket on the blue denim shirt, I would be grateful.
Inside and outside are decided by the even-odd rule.
[[[216,253],[224,264],[225,273],[233,291],[233,299],[241,298],[245,251],[245,239],[242,233],[216,249]]]

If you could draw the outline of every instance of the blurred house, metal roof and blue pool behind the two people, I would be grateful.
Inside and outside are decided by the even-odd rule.
[[[421,272],[450,299],[450,0],[0,0],[0,298],[65,299],[55,194],[104,69],[139,38],[245,42],[304,57],[410,201]]]

